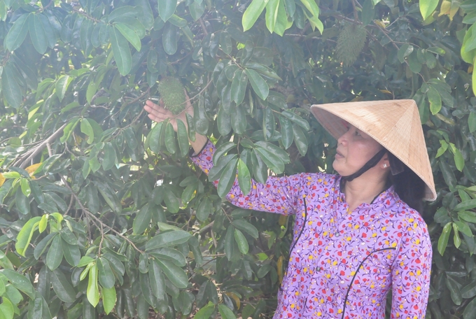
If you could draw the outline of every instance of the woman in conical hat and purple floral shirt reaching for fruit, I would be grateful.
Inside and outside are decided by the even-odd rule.
[[[145,109],[152,120],[175,124],[151,101]],[[432,250],[417,210],[436,193],[416,104],[363,101],[311,111],[337,139],[339,175],[269,177],[264,185],[253,181],[247,195],[238,183],[228,194],[243,208],[296,215],[274,318],[384,318],[390,289],[391,318],[424,318]],[[208,173],[213,144],[205,136],[191,144],[193,162]]]

